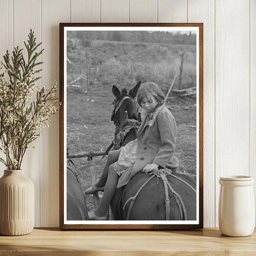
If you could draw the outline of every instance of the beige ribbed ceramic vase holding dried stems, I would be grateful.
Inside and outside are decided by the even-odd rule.
[[[34,185],[23,170],[4,170],[0,178],[0,234],[20,236],[34,228]]]

